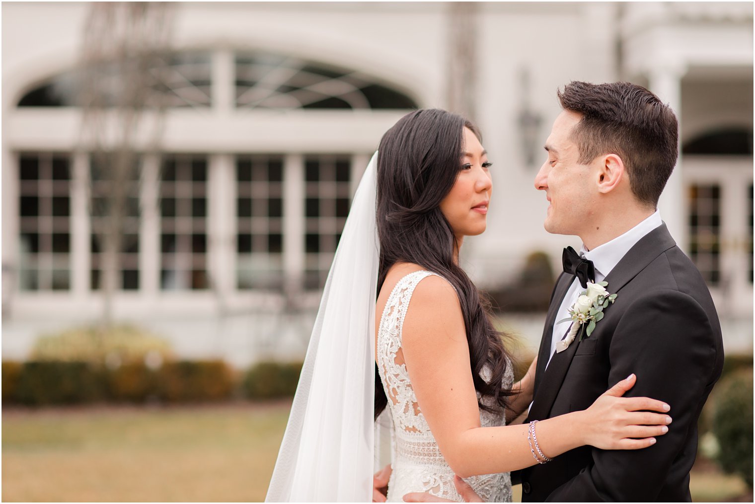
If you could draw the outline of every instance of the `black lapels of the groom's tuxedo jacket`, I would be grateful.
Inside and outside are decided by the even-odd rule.
[[[647,235],[643,236],[624,257],[618,262],[618,264],[612,269],[609,275],[606,276],[608,282],[608,291],[610,293],[618,293],[621,287],[624,287],[629,281],[632,280],[639,272],[645,269],[652,260],[655,260],[660,254],[663,254],[671,247],[675,247],[676,242],[668,232],[666,224],[661,224],[657,228],[653,229]],[[565,275],[566,276],[566,275]],[[569,275],[569,278],[574,278]],[[566,290],[571,284],[565,284],[562,288],[560,297],[553,297],[550,310],[548,311],[547,324],[545,327],[543,343],[541,343],[541,352],[538,357],[538,373],[535,375],[535,395],[532,401],[532,408],[529,411],[530,420],[541,420],[548,418],[550,415],[550,407],[553,406],[553,401],[556,400],[561,385],[563,383],[566,372],[569,370],[569,365],[572,364],[572,358],[574,358],[579,341],[575,341],[563,352],[559,352],[553,355],[550,360],[550,364],[547,369],[541,367],[541,359],[543,358],[543,345],[545,340],[549,342],[548,350],[550,351],[550,337],[546,338],[547,334],[553,331],[553,322],[556,317],[556,312],[563,300]],[[559,285],[559,288],[563,287]],[[621,302],[621,297],[617,298],[617,303]],[[555,309],[554,309],[555,306]],[[610,310],[610,308],[608,308]],[[590,337],[599,337],[600,324],[596,326],[596,332]],[[547,362],[548,356],[545,356],[545,360],[542,363],[544,365]]]

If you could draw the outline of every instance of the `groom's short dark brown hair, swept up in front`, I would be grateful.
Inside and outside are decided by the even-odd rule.
[[[578,162],[618,155],[637,200],[655,208],[679,152],[679,124],[673,110],[630,82],[572,81],[558,97],[563,109],[582,115],[572,131]]]

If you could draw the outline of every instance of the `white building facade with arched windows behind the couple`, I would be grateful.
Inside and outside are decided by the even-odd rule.
[[[2,6],[4,358],[103,309],[93,238],[102,223],[88,209],[106,195],[80,143],[82,111],[60,96],[89,8]],[[556,267],[578,238],[544,232],[533,186],[556,89],[626,79],[680,116],[683,154],[661,214],[708,281],[727,349],[752,351],[752,4],[173,9],[173,101],[159,151],[140,157],[140,219],[119,257],[116,318],[165,335],[188,358],[300,358],[382,134],[416,107],[453,108],[467,83],[495,187],[488,232],[465,243],[467,271],[495,287],[534,250]],[[453,51],[460,12],[467,60]]]

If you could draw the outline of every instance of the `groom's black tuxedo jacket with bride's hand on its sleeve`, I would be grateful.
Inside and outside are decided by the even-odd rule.
[[[667,402],[673,422],[643,450],[584,446],[523,469],[522,501],[690,501],[698,416],[723,367],[721,327],[703,278],[666,225],[654,229],[606,277],[618,296],[590,337],[554,355],[546,370],[556,312],[573,280],[562,274],[553,290],[527,421],[584,410],[635,373],[624,396]]]

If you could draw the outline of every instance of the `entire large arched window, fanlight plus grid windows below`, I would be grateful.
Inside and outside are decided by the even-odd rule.
[[[73,117],[72,109],[93,103],[85,101],[86,87],[102,107],[98,112],[128,106],[123,97],[132,96],[127,91],[134,91],[137,81],[129,81],[129,75],[145,83],[132,105],[169,109],[165,130],[173,128],[173,134],[161,139],[160,152],[129,146],[141,149],[135,153],[140,164],[129,179],[129,201],[137,204],[126,216],[130,227],[122,237],[116,288],[157,293],[224,285],[241,296],[319,290],[374,149],[364,132],[373,131],[369,142],[377,143],[386,118],[418,108],[418,100],[387,79],[286,54],[202,49],[153,54],[149,62],[109,61],[36,81],[14,110],[38,121],[66,121]],[[146,71],[135,73],[134,63]],[[208,114],[211,109],[223,113]],[[249,146],[243,135],[236,135],[254,128],[254,115],[270,118],[264,113],[270,110],[296,111],[272,116],[285,124],[300,121],[304,128],[275,146]],[[366,113],[351,113],[355,110]],[[322,146],[321,121],[334,116],[355,124],[353,130],[362,137],[339,135],[336,143]],[[74,121],[70,124],[75,127]],[[107,179],[87,170],[94,167],[94,157],[75,152],[78,137],[63,138],[59,131],[46,133],[58,135],[52,139],[34,132],[29,137],[36,149],[20,152],[23,288],[99,290],[106,220],[103,212],[94,211],[94,203],[108,198]],[[195,135],[193,140],[186,140],[187,131]],[[68,142],[67,149],[60,149],[61,139]],[[51,145],[57,150],[52,152]],[[58,161],[68,163],[66,180],[71,183],[57,180]],[[39,174],[36,168],[26,169],[32,164],[39,164]],[[107,171],[105,166],[98,173]],[[66,210],[63,203],[77,197],[74,181],[90,190]],[[86,241],[84,234],[89,235]]]

